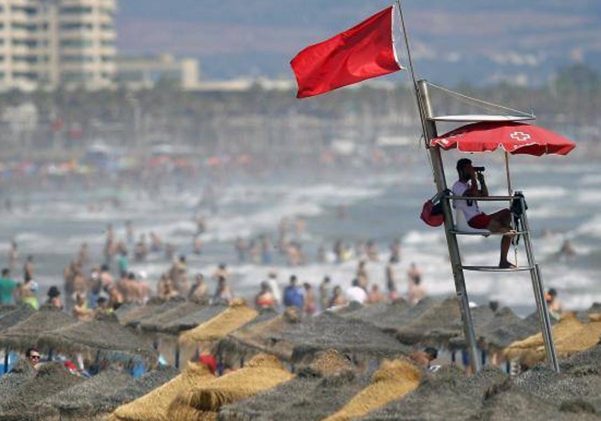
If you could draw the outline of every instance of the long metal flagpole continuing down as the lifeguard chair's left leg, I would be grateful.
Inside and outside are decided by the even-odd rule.
[[[413,71],[413,62],[411,60],[411,51],[409,48],[409,37],[407,37],[407,29],[404,23],[401,2],[400,0],[397,0],[396,3],[398,7],[398,14],[401,19],[401,26],[403,26],[403,36],[407,48],[407,60],[409,61],[409,70],[413,79],[413,89],[415,90],[415,96],[418,103],[419,119],[421,120],[421,127],[424,133],[424,140],[426,142],[426,149],[430,153],[430,160],[432,161],[434,182],[436,183],[438,192],[443,192],[447,189],[447,180],[445,178],[444,165],[442,164],[441,151],[439,147],[430,147],[430,140],[436,137],[437,132],[436,123],[431,119],[433,117],[433,111],[432,105],[430,104],[430,96],[428,94],[428,84],[424,80],[416,80],[415,72]],[[455,290],[457,293],[457,298],[459,298],[459,307],[463,321],[463,333],[465,334],[466,343],[468,345],[472,372],[477,373],[480,371],[480,358],[478,358],[479,355],[474,333],[474,323],[472,322],[472,313],[469,310],[468,291],[465,287],[465,278],[463,277],[459,244],[457,244],[456,235],[451,233],[451,231],[454,229],[451,203],[448,198],[442,198],[441,203],[445,221],[445,235],[447,236],[449,257],[451,259],[451,269],[453,270]]]

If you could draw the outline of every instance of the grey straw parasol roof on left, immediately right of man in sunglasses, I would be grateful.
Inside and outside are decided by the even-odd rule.
[[[132,330],[115,322],[88,321],[69,324],[40,335],[38,343],[62,354],[84,354],[88,360],[101,358],[123,363],[153,365],[156,351]]]

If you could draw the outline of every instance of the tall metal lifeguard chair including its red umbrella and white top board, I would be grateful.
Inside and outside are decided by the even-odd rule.
[[[540,156],[547,153],[557,155],[566,155],[575,144],[551,131],[525,124],[523,121],[534,120],[534,115],[445,115],[435,116],[430,105],[429,87],[441,88],[447,92],[452,92],[446,88],[429,84],[421,80],[416,84],[418,96],[419,114],[422,120],[424,137],[426,138],[426,149],[430,154],[432,161],[433,174],[438,192],[447,191],[447,180],[445,178],[444,167],[442,164],[441,149],[448,150],[457,148],[461,152],[477,153],[487,152],[502,147],[505,150],[505,167],[507,170],[507,196],[489,196],[478,197],[478,201],[501,201],[513,203],[517,201],[518,208],[521,209],[520,231],[518,235],[522,236],[526,251],[527,264],[515,268],[499,268],[498,266],[466,266],[462,265],[458,235],[483,235],[493,236],[502,235],[492,233],[489,230],[473,229],[468,226],[465,215],[459,209],[453,212],[452,201],[456,200],[474,200],[473,197],[457,197],[452,195],[442,196],[442,210],[444,213],[445,235],[453,269],[453,278],[457,297],[459,298],[460,309],[463,320],[463,331],[469,354],[471,356],[471,365],[474,372],[480,370],[480,358],[477,354],[477,344],[474,333],[474,324],[472,322],[471,311],[469,309],[468,292],[465,286],[463,271],[480,272],[520,272],[528,271],[532,280],[532,289],[536,301],[540,328],[545,342],[545,351],[549,364],[558,372],[559,363],[555,344],[551,332],[551,321],[547,303],[545,301],[545,284],[543,283],[540,266],[534,257],[534,248],[532,247],[531,236],[528,226],[528,217],[526,215],[526,203],[522,194],[513,195],[511,189],[511,177],[509,172],[509,154],[527,154]],[[461,95],[461,94],[459,94]],[[465,96],[464,96],[465,97]],[[471,123],[462,126],[445,135],[438,136],[436,123],[438,121],[447,121],[451,123]],[[517,193],[517,192],[516,192]]]

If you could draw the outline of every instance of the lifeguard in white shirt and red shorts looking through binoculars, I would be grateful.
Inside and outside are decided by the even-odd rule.
[[[489,195],[484,174],[472,167],[470,159],[462,158],[457,161],[457,173],[459,174],[459,180],[453,185],[453,195],[468,197],[487,197]],[[478,182],[480,188],[478,188]],[[501,209],[494,214],[487,215],[480,210],[476,200],[454,200],[453,207],[463,212],[465,220],[472,228],[507,233],[501,239],[499,268],[513,268],[514,265],[507,260],[511,236],[514,235],[514,231],[511,229],[511,211]]]

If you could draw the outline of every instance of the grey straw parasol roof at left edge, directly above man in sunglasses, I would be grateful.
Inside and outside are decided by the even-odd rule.
[[[75,319],[61,310],[40,309],[25,320],[2,331],[0,347],[25,351],[29,346],[36,345],[42,334],[75,323]]]

